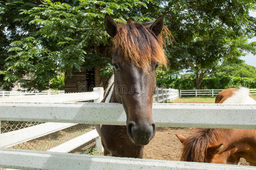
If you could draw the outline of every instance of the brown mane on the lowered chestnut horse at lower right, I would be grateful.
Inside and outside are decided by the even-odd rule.
[[[228,129],[196,129],[194,133],[183,143],[181,160],[189,162],[204,162],[207,156],[207,148],[226,133]]]

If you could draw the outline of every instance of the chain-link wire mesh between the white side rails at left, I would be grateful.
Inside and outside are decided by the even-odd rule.
[[[93,100],[83,101],[83,102],[93,103]],[[43,123],[45,122],[0,121],[1,134],[8,133],[14,130],[28,128],[28,127],[43,124]],[[89,131],[92,131],[94,129],[95,129],[94,125],[92,124],[77,124],[69,128],[56,131],[55,133],[44,135],[43,137],[39,137],[27,142],[19,143],[18,145],[11,146],[9,148],[47,151],[53,147],[59,146],[67,141],[70,141],[71,139],[79,137],[80,135],[88,133]],[[94,148],[95,148],[95,141],[92,140],[80,146],[79,148],[76,148],[76,150],[72,152],[76,154],[85,154],[85,153],[92,154],[95,152],[96,154],[96,149]]]

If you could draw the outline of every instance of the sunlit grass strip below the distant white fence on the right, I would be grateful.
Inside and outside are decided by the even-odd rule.
[[[188,97],[181,97],[177,100],[174,100],[174,101],[179,101],[181,103],[185,103],[185,101],[197,101],[197,102],[205,102],[205,103],[214,103],[215,102],[215,97],[212,97],[212,96],[198,96],[198,97],[191,97],[191,96],[188,96]],[[253,98],[256,100],[256,95],[253,95]],[[172,103],[172,102],[171,102]]]

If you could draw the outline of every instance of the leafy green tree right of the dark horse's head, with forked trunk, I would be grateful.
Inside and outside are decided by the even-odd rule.
[[[167,50],[170,67],[195,74],[200,89],[218,62],[248,46],[246,41],[238,44],[235,40],[255,36],[256,20],[249,10],[255,10],[253,1],[168,2],[164,14],[176,40]]]

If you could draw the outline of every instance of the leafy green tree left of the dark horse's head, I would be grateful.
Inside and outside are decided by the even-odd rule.
[[[34,3],[33,3],[34,2]],[[105,32],[104,16],[113,15],[117,22],[127,19],[148,21],[147,4],[150,1],[25,1],[5,0],[2,15],[9,18],[13,9],[20,25],[17,39],[10,39],[9,54],[1,71],[8,84],[22,83],[30,90],[49,87],[49,80],[57,72],[71,75],[74,69],[100,69],[110,62],[111,41]],[[30,7],[25,7],[30,4]],[[14,26],[15,23],[8,22]],[[9,28],[8,28],[9,29]],[[31,75],[29,82],[24,75]],[[3,85],[5,86],[5,84]]]

